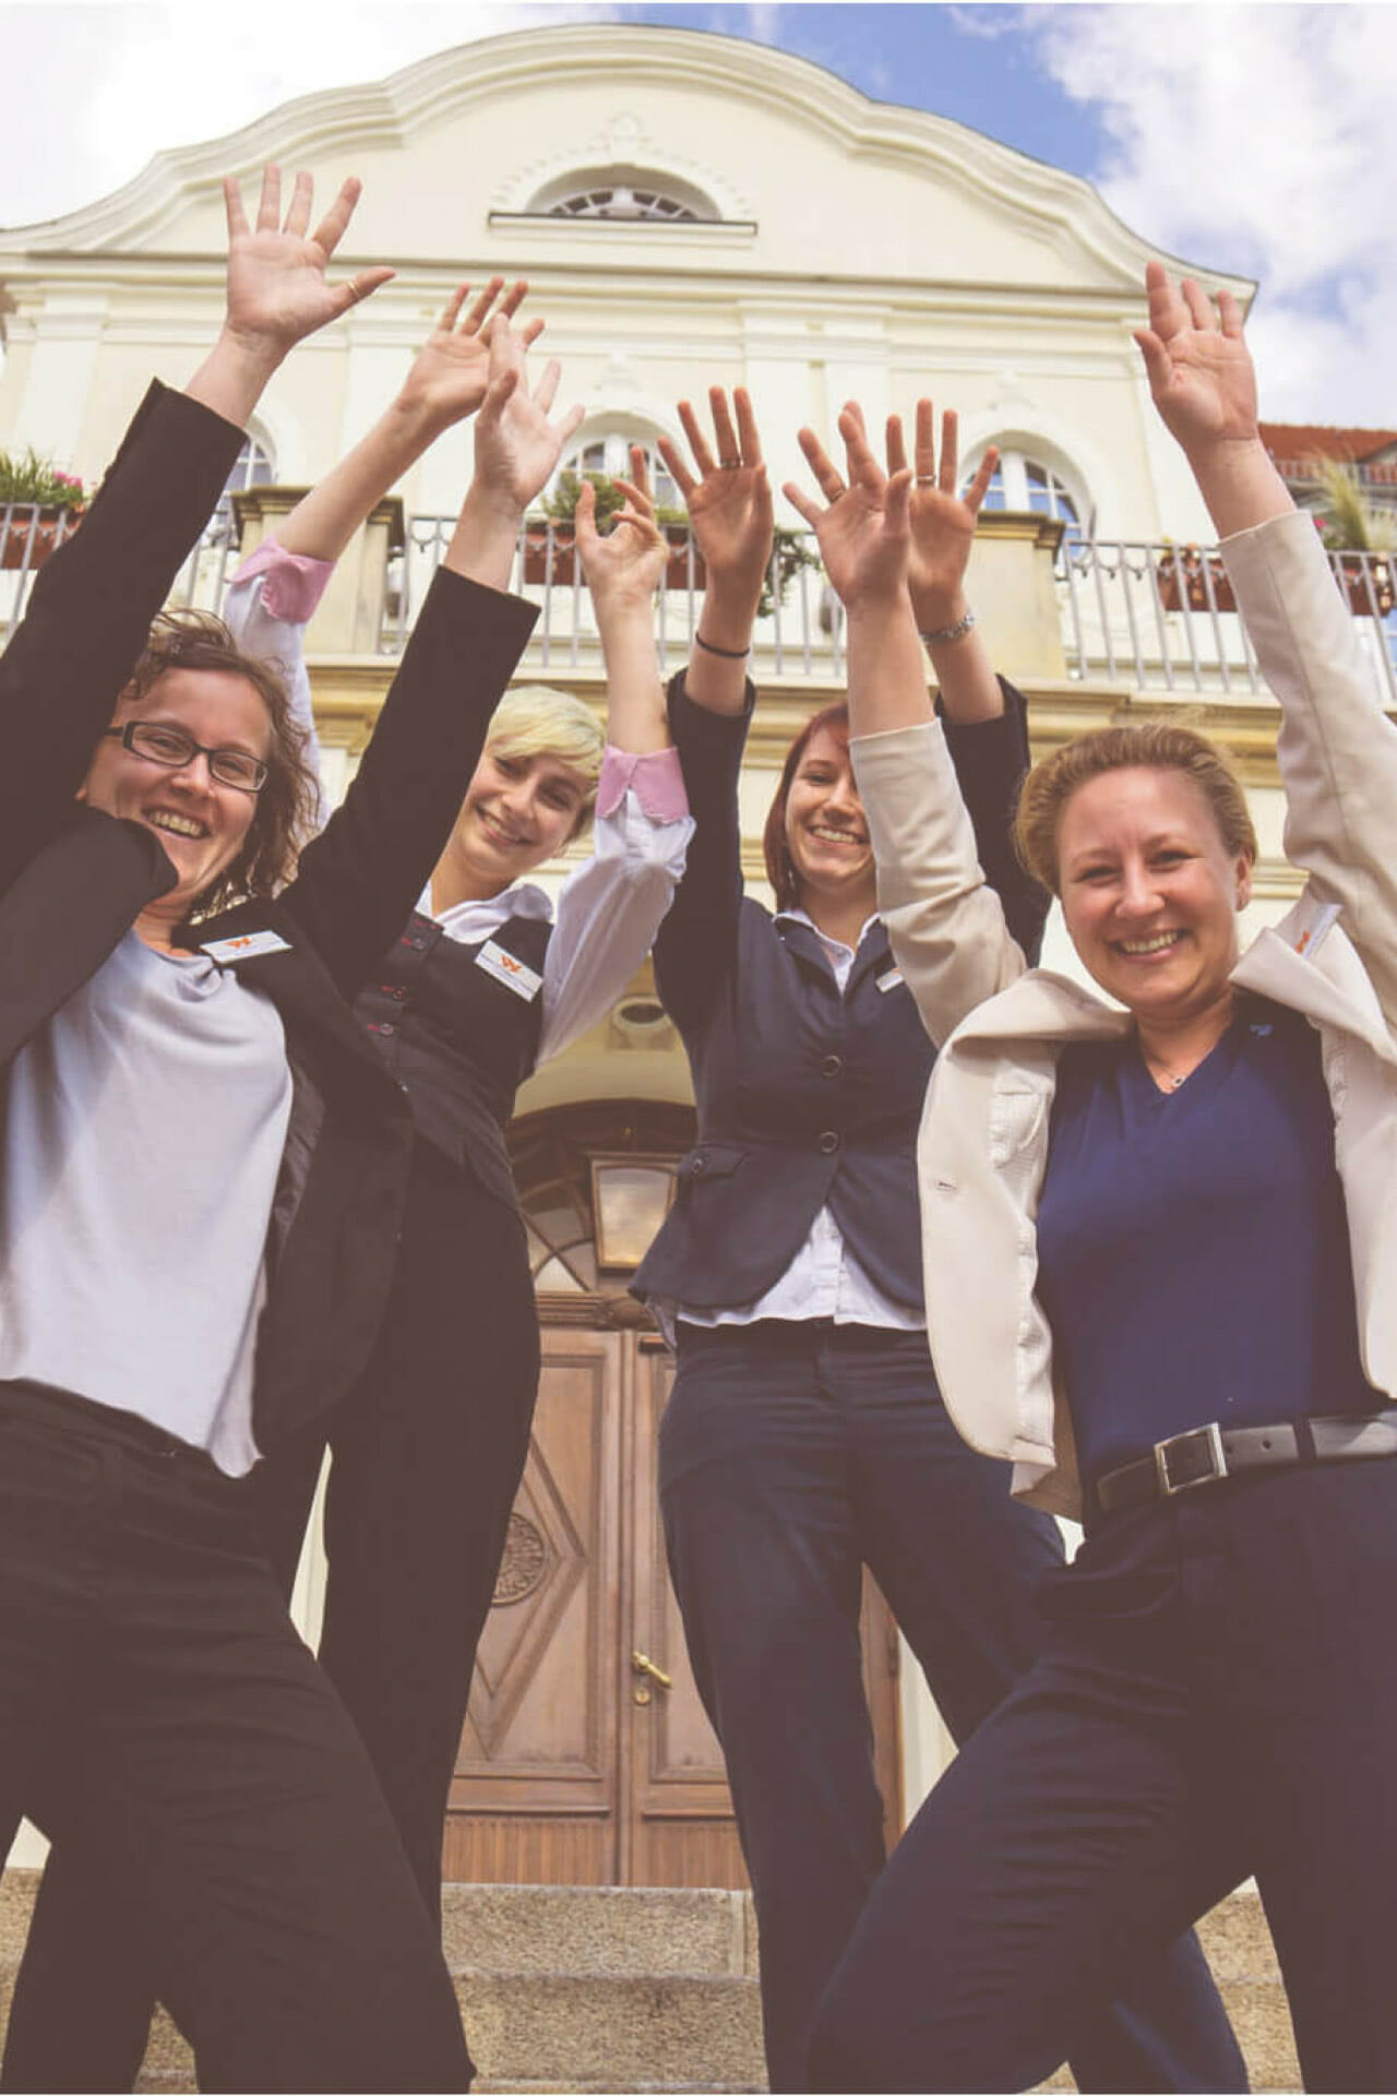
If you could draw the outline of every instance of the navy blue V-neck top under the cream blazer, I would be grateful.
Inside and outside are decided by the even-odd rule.
[[[1160,1092],[1133,1035],[1058,1065],[1039,1302],[1083,1476],[1206,1425],[1372,1411],[1320,1035],[1242,998]]]

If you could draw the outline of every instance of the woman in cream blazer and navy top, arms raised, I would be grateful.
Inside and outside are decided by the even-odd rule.
[[[1152,266],[1137,340],[1284,715],[1309,885],[1240,958],[1236,786],[1242,838],[1196,771],[1091,773],[1072,746],[1041,771],[1085,763],[1085,784],[1066,773],[1045,832],[1030,780],[1020,843],[1118,1002],[1024,968],[903,675],[905,486],[850,417],[852,488],[817,467],[880,908],[945,1040],[919,1138],[936,1375],[1016,1490],[1087,1526],[1045,1582],[1043,1658],[932,1792],[825,1993],[823,2090],[1030,2086],[1125,1960],[1248,1874],[1305,2086],[1397,2086],[1397,1467],[1376,1461],[1397,1453],[1397,734],[1257,436],[1236,304],[1219,327]],[[1290,1147],[1309,1182],[1273,1172]]]

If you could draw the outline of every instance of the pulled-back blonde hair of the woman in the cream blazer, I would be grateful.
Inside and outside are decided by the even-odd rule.
[[[1148,721],[1139,727],[1102,727],[1093,736],[1077,736],[1045,757],[1041,765],[1035,765],[1018,796],[1014,849],[1033,878],[1041,880],[1054,895],[1060,893],[1058,826],[1062,809],[1087,780],[1137,767],[1183,771],[1213,809],[1227,857],[1255,861],[1257,832],[1246,794],[1217,744],[1208,742],[1206,736],[1196,736],[1192,727],[1175,727],[1167,721]]]

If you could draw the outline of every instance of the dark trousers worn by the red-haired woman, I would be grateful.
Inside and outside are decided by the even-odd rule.
[[[961,1442],[922,1333],[679,1331],[660,1429],[670,1570],[752,1876],[771,2088],[808,2090],[815,2006],[884,1865],[861,1570],[963,1742],[1037,1656],[1035,1595],[1062,1541],[1010,1499],[1003,1463]],[[915,1945],[907,1958],[919,1962]],[[1192,1937],[1152,1945],[1108,2002],[1110,1989],[1070,2031],[1083,2090],[1246,2088]]]

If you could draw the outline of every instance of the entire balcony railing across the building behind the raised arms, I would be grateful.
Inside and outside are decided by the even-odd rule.
[[[65,528],[71,528],[65,526]],[[436,574],[454,518],[408,518],[406,547],[390,555],[379,652],[398,656]],[[0,505],[0,643],[21,614],[36,566],[50,551],[52,518],[29,505]],[[237,549],[232,520],[214,516],[186,560],[172,604],[218,610]],[[813,534],[798,541],[811,555]],[[1043,555],[1047,558],[1047,555]],[[1355,614],[1355,633],[1372,669],[1374,694],[1397,708],[1397,558],[1330,553],[1338,587]],[[8,566],[8,562],[15,566]],[[777,562],[773,558],[773,570]],[[702,566],[685,537],[670,553],[666,587],[656,595],[656,650],[662,673],[683,664],[704,602]],[[530,520],[519,532],[513,587],[538,604],[528,648],[530,673],[601,673],[601,641],[591,595],[574,562],[572,534]],[[1213,547],[1148,541],[1064,539],[1054,560],[1058,637],[1072,683],[1127,685],[1200,700],[1267,698]],[[771,608],[756,623],[752,675],[758,683],[844,683],[844,614],[819,566],[773,572]],[[993,618],[986,616],[993,629]]]

